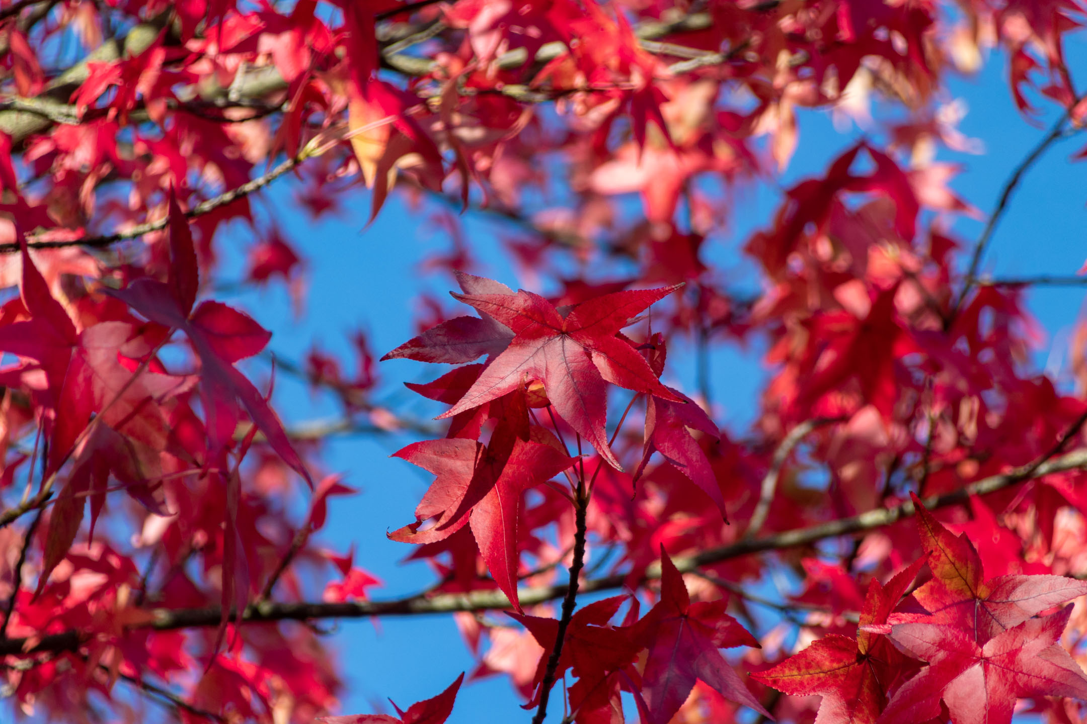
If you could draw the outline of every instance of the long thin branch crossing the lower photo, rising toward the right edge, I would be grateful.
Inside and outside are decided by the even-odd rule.
[[[1065,437],[1062,437],[1063,442],[1059,442],[1059,444],[1065,444],[1070,439],[1071,435],[1066,434]],[[1042,475],[1063,472],[1065,470],[1087,468],[1087,448],[1077,449],[1061,457],[1053,457],[1052,459],[1048,459],[1048,455],[1050,454],[1047,453],[1046,456],[1041,456],[1038,460],[1021,468],[971,483],[959,491],[925,498],[923,503],[929,509],[944,508],[961,504],[971,495],[987,495],[1010,487],[1024,480],[1041,478]],[[695,556],[675,558],[674,562],[680,571],[689,572],[703,566],[712,566],[750,554],[796,548],[811,545],[825,538],[871,531],[910,518],[914,512],[913,504],[907,501],[894,508],[878,508],[859,516],[841,518],[819,525],[784,531],[751,541],[738,541],[730,545],[703,550]],[[659,579],[660,575],[660,564],[653,563],[648,567],[644,577],[651,580]],[[628,575],[626,573],[615,573],[599,579],[591,579],[582,582],[578,585],[578,592],[587,594],[622,588],[627,583],[627,579]],[[521,588],[517,592],[517,597],[521,599],[522,606],[535,606],[563,598],[567,590],[567,585]],[[421,615],[452,613],[455,611],[486,611],[509,607],[510,601],[505,595],[500,590],[491,589],[459,594],[436,594],[433,596],[424,594],[386,601],[262,604],[259,607],[246,609],[243,620],[251,623],[261,623],[308,621],[313,619],[353,619],[375,615]],[[217,606],[200,609],[153,609],[150,611],[150,623],[146,624],[145,627],[158,631],[172,631],[197,626],[217,626],[221,619],[222,609]],[[237,615],[232,614],[229,619],[232,621],[236,620]],[[26,638],[0,639],[0,656],[17,655],[21,652],[71,650],[78,648],[85,640],[85,634],[78,631],[66,631],[60,634],[42,636],[36,643]],[[28,642],[32,644],[30,648],[27,651],[23,651]]]

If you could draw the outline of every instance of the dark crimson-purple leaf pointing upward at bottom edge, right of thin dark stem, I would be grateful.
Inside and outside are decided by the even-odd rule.
[[[661,600],[635,626],[639,645],[649,649],[641,694],[651,724],[666,724],[687,699],[695,682],[770,716],[717,651],[759,642],[725,613],[726,601],[690,602],[683,575],[661,548]]]

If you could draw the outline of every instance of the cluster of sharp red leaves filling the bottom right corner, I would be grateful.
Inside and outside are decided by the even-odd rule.
[[[1060,644],[1087,583],[1062,575],[986,580],[977,549],[921,500],[925,558],[887,585],[873,580],[857,637],[832,634],[754,674],[792,695],[823,695],[821,722],[1011,722],[1016,697],[1087,699],[1084,674]],[[933,577],[909,590],[923,562]],[[1051,611],[1048,615],[1046,611]],[[926,663],[917,670],[909,659]],[[911,665],[912,664],[912,665]],[[889,698],[889,701],[888,701]]]

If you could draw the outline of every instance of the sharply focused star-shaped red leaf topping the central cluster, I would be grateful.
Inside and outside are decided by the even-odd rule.
[[[555,410],[610,465],[622,469],[604,432],[605,385],[682,402],[660,383],[645,358],[617,332],[653,302],[678,289],[616,292],[574,305],[565,316],[532,292],[454,294],[513,330],[515,336],[475,384],[439,419],[478,407],[526,381],[544,383]]]

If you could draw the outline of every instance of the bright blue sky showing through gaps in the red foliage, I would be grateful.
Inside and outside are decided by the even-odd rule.
[[[1075,37],[1073,38],[1075,39]],[[1087,67],[1087,48],[1083,42],[1070,49],[1073,68]],[[952,188],[970,203],[987,213],[1011,169],[1045,134],[1020,115],[1005,81],[1005,62],[991,59],[977,77],[955,79],[948,99],[961,98],[969,113],[960,129],[983,139],[984,155],[941,152],[940,157],[963,165]],[[1045,107],[1045,103],[1039,103]],[[1040,118],[1048,125],[1052,114]],[[826,163],[848,148],[859,131],[839,132],[825,112],[805,112],[801,117],[801,140],[783,186],[796,179],[822,173]],[[1028,174],[1011,211],[1001,224],[986,256],[983,269],[995,275],[1074,274],[1087,258],[1087,163],[1071,164],[1069,156],[1087,143],[1087,137],[1065,141],[1051,150]],[[290,203],[290,185],[274,186],[264,202],[277,207]],[[766,186],[748,191],[737,205],[734,228],[727,238],[715,240],[709,251],[737,279],[753,268],[739,254],[748,234],[765,226],[778,201],[778,192]],[[262,202],[257,202],[260,207]],[[314,225],[301,215],[282,219],[283,232],[309,259],[308,313],[299,323],[280,288],[246,291],[235,299],[268,329],[275,332],[271,348],[291,359],[300,359],[313,342],[351,360],[347,333],[361,327],[367,331],[374,351],[380,355],[414,333],[413,300],[422,289],[443,292],[450,280],[439,274],[420,270],[420,262],[434,252],[448,249],[448,237],[426,224],[416,209],[393,198],[377,221],[363,230],[370,209],[368,194],[359,191],[348,196],[347,211],[337,219]],[[476,257],[483,262],[482,274],[493,276],[511,287],[518,279],[500,253],[492,221],[465,217],[468,237]],[[972,240],[982,223],[962,219],[954,230],[959,238]],[[237,234],[220,249],[237,256],[249,243]],[[1041,367],[1060,368],[1067,356],[1067,334],[1082,312],[1082,289],[1036,289],[1028,293],[1029,308],[1048,334],[1045,350],[1038,355]],[[1052,352],[1050,352],[1052,351]],[[734,432],[744,430],[757,412],[762,370],[758,347],[726,347],[713,355],[713,390],[716,418]],[[678,357],[678,355],[675,355]],[[670,358],[671,361],[671,358]],[[402,390],[400,383],[433,377],[433,369],[417,363],[393,360],[379,365],[383,390],[387,394]],[[690,389],[694,371],[680,366],[679,378]],[[399,393],[396,393],[399,395]],[[279,377],[278,409],[292,422],[336,414],[330,401],[314,398],[301,385]],[[407,398],[401,396],[401,398]],[[425,407],[416,408],[426,414]],[[434,409],[430,414],[436,414]],[[324,544],[347,550],[357,548],[357,562],[379,576],[386,584],[376,596],[391,597],[424,588],[433,579],[424,563],[400,566],[410,552],[408,546],[386,539],[385,532],[411,520],[411,511],[429,483],[416,468],[388,455],[411,442],[409,437],[337,439],[327,447],[329,470],[342,472],[346,482],[362,490],[358,496],[338,499],[332,506],[330,520],[322,533]],[[449,685],[461,671],[471,671],[475,662],[449,617],[388,618],[380,622],[345,621],[329,638],[342,661],[348,683],[343,713],[365,713],[391,697],[405,707],[433,696]],[[471,683],[461,690],[451,717],[453,723],[527,721],[527,712],[503,677]],[[555,713],[552,711],[552,716]],[[557,721],[557,720],[555,720]]]

